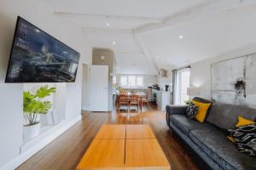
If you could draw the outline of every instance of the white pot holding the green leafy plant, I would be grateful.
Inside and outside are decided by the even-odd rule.
[[[41,124],[39,122],[32,126],[24,126],[23,127],[23,139],[27,140],[27,139],[32,139],[32,138],[38,136],[38,134],[40,132],[40,127],[41,127]]]

